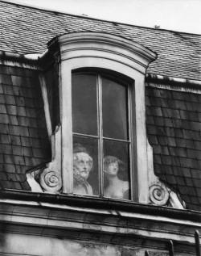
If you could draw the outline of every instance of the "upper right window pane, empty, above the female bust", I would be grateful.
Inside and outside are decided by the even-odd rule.
[[[128,139],[127,87],[102,78],[103,135]]]

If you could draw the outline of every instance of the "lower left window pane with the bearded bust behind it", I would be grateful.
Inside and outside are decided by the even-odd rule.
[[[73,136],[73,192],[99,194],[98,140]]]

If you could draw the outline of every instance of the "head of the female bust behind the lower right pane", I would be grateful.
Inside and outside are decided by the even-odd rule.
[[[117,157],[106,156],[104,157],[104,172],[109,176],[117,176],[120,169],[124,169],[124,162]]]

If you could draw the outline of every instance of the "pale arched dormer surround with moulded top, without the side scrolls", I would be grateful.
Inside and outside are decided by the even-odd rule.
[[[56,37],[48,44],[59,63],[59,108],[61,121],[61,174],[63,193],[73,193],[72,161],[72,71],[82,68],[107,69],[133,80],[132,106],[133,200],[149,202],[146,139],[145,75],[156,54],[131,40],[96,32],[76,32]],[[133,150],[133,152],[135,151]]]

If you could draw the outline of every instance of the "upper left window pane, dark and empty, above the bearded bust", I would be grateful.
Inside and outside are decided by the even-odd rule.
[[[96,75],[72,74],[72,131],[97,135]]]

